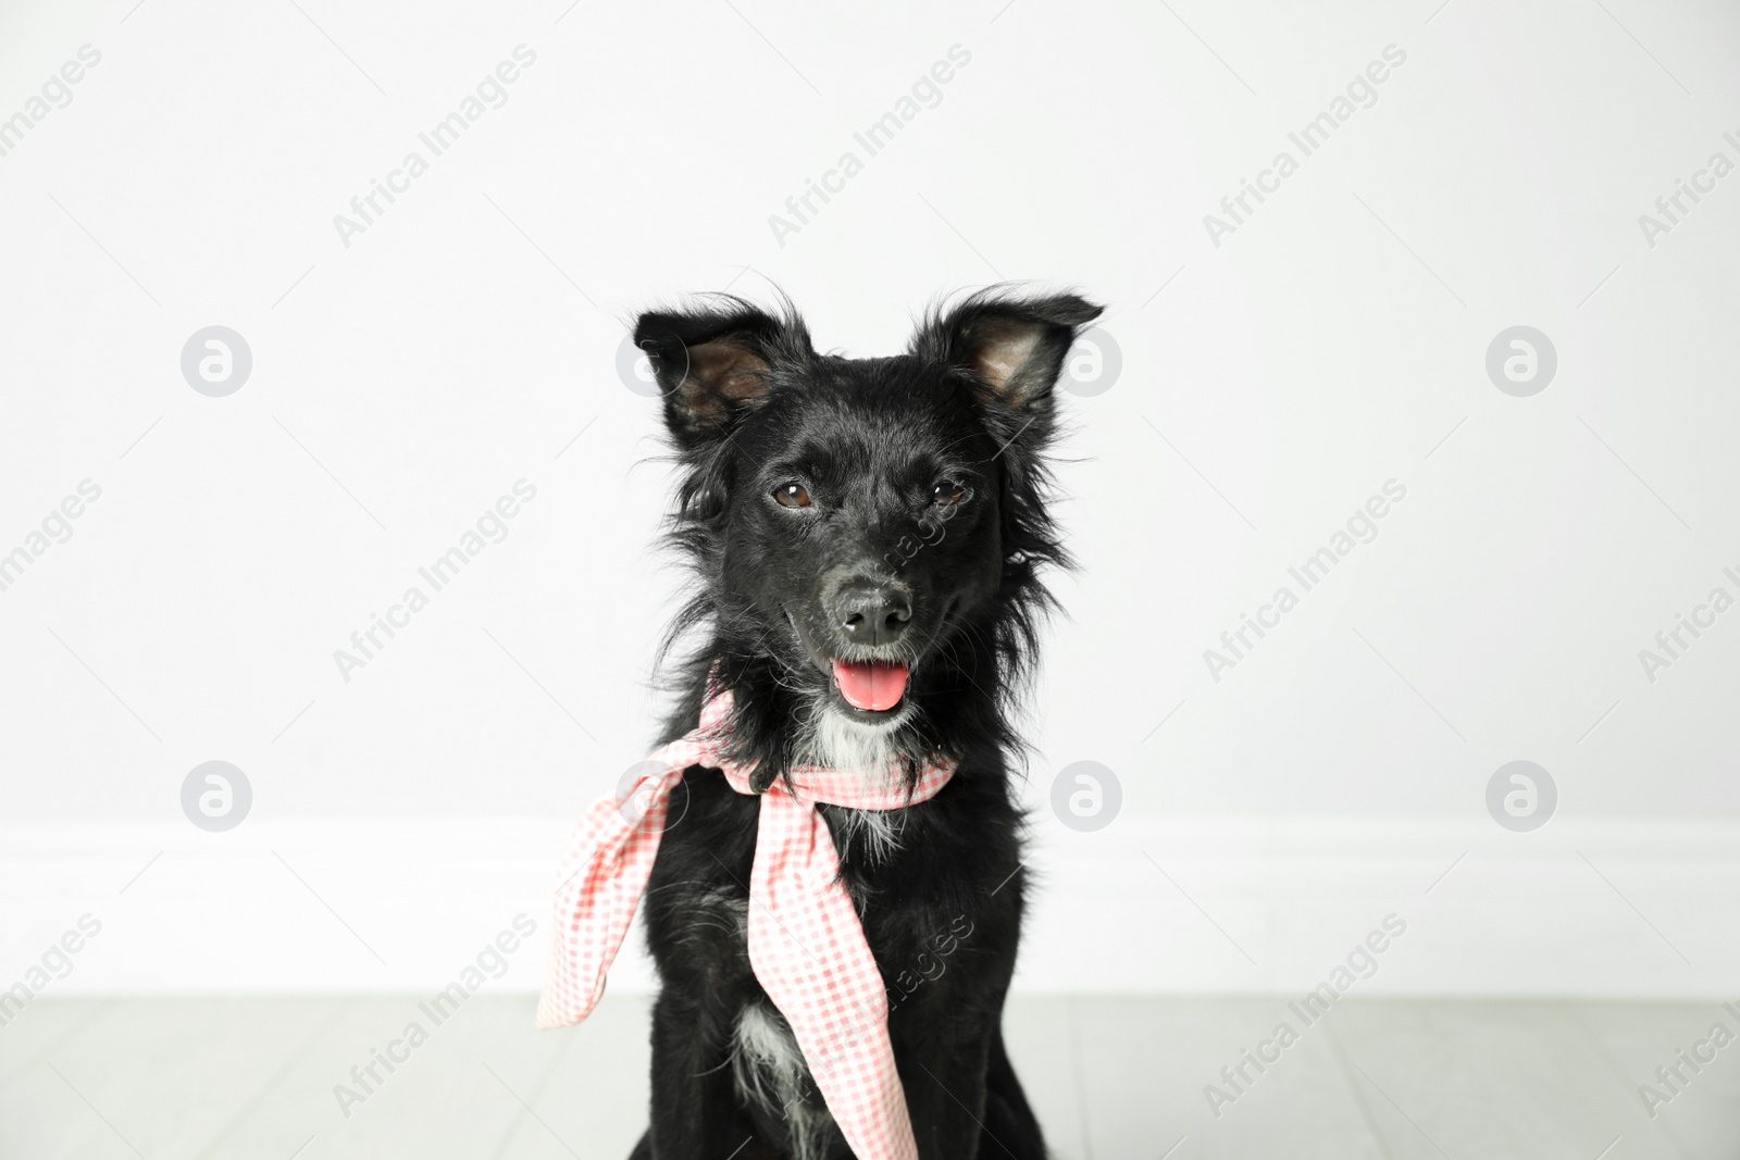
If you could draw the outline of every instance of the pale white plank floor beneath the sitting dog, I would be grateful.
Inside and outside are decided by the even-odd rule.
[[[0,1028],[0,1157],[628,1155],[647,1000],[566,1031],[534,1031],[531,997],[480,995],[440,1026],[419,1000],[38,1000]],[[1282,1019],[1298,1042],[1211,1115],[1204,1085]],[[1740,1045],[1656,1118],[1637,1092],[1717,1019],[1735,1024],[1714,1003],[1343,1000],[1305,1026],[1281,998],[1096,997],[1011,1000],[1006,1030],[1068,1160],[1726,1160]],[[346,1117],[334,1085],[412,1021],[428,1042]]]

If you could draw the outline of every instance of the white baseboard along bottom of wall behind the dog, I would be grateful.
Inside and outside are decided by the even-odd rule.
[[[567,830],[0,824],[0,988],[435,990],[525,913],[538,934],[489,986],[536,990]],[[1373,939],[1385,950],[1371,967],[1355,953],[1350,993],[1740,997],[1737,821],[1561,817],[1514,835],[1486,819],[1126,816],[1077,835],[1042,817],[1030,870],[1025,991],[1302,993],[1394,915],[1406,930]],[[71,937],[84,944],[52,977],[63,962],[49,948],[82,915],[101,932]],[[639,944],[612,986],[651,986]]]

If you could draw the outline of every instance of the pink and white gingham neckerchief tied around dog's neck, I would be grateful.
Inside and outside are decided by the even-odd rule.
[[[640,776],[597,802],[569,838],[539,1028],[579,1023],[604,995],[604,976],[646,892],[670,791],[684,770],[713,767],[738,793],[753,793],[753,767],[727,760],[729,717],[731,692],[715,692],[699,727],[652,753],[637,767]],[[908,793],[898,769],[865,777],[861,770],[800,765],[792,769],[795,797],[783,781],[760,795],[748,885],[750,969],[792,1024],[816,1087],[860,1160],[917,1160],[919,1148],[887,1038],[882,974],[816,802],[901,809],[936,797],[954,774],[954,760],[933,762]]]

